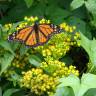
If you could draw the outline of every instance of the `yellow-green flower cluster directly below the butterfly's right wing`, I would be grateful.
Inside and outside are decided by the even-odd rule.
[[[65,33],[56,34],[44,46],[35,48],[40,51],[45,58],[52,57],[53,59],[59,59],[70,50],[71,45],[75,43],[71,41]]]

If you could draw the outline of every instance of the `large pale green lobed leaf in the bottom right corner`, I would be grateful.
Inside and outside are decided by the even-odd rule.
[[[87,73],[83,74],[81,81],[78,77],[70,75],[60,79],[61,84],[57,88],[64,86],[70,86],[75,96],[83,96],[86,91],[90,88],[96,88],[96,75]]]

